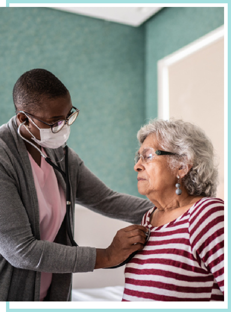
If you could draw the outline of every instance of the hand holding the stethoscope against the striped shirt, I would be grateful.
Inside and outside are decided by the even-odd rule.
[[[96,249],[95,269],[116,266],[137,250],[142,250],[146,241],[147,228],[132,224],[119,230],[110,246]]]

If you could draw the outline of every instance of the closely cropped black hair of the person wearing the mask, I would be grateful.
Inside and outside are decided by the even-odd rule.
[[[69,91],[50,71],[36,68],[20,76],[13,88],[13,101],[17,110],[36,111],[43,99],[66,97]]]

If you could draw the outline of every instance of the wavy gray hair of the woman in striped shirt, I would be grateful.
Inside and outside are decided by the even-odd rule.
[[[139,143],[142,144],[149,134],[156,135],[162,149],[177,154],[167,156],[170,168],[192,165],[182,179],[190,195],[216,196],[218,169],[214,164],[214,148],[202,129],[182,119],[153,119],[138,131]]]

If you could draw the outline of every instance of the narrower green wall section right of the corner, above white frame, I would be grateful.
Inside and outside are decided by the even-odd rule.
[[[224,7],[166,7],[146,27],[146,118],[157,117],[157,61],[224,24]]]

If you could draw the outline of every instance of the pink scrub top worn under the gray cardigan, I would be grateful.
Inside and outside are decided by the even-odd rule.
[[[42,152],[46,155],[45,151]],[[39,205],[40,238],[54,241],[66,213],[66,197],[58,184],[54,169],[41,157],[41,167],[28,153]],[[54,255],[55,256],[55,255]],[[41,272],[40,301],[47,295],[52,273]]]

